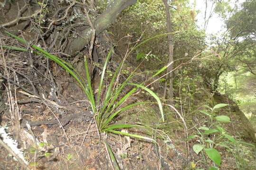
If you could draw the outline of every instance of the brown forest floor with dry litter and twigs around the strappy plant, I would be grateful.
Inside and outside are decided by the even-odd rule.
[[[6,40],[1,44],[13,44],[9,38],[6,37]],[[81,64],[77,62],[75,65],[80,73],[83,73]],[[112,169],[102,139],[108,140],[123,170],[157,170],[159,166],[164,170],[193,170],[196,167],[207,168],[213,165],[209,158],[203,158],[193,152],[192,145],[198,143],[197,140],[186,140],[186,133],[195,134],[195,125],[204,124],[205,117],[187,115],[185,129],[179,116],[168,108],[165,108],[167,123],[160,124],[156,106],[138,107],[124,112],[116,121],[137,122],[152,127],[158,124],[164,132],[157,135],[159,146],[127,136],[104,134],[99,138],[84,93],[73,78],[56,63],[31,52],[8,50],[1,58],[0,68],[5,73],[1,78],[3,83],[0,123],[1,126],[8,127],[6,130],[10,136],[23,148],[25,159],[29,161],[32,169]],[[136,100],[150,101],[151,98],[142,93]],[[217,101],[211,100],[223,102],[224,99],[218,97],[215,99]],[[239,116],[233,117],[233,122],[227,127],[231,132],[236,127],[238,130],[244,129],[242,134],[247,134],[245,139],[249,141],[253,137],[249,136],[251,132],[244,127],[247,124],[246,119],[244,120],[245,122]],[[31,130],[26,122],[31,126]],[[154,131],[129,131],[155,136]],[[218,150],[222,157],[221,169],[236,169],[236,159],[232,153],[221,147],[218,147]],[[254,151],[247,149],[246,152]],[[250,154],[245,155],[247,157]],[[0,150],[0,162],[0,169],[3,170],[22,169],[22,165],[3,148]],[[248,164],[247,167],[252,166]]]

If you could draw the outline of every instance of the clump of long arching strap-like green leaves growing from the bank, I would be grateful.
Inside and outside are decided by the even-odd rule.
[[[16,40],[18,40],[21,43],[24,43],[28,46],[28,42],[26,42],[26,40],[11,34],[9,32],[6,32],[7,34],[9,34],[9,36],[15,38]],[[167,33],[167,34],[173,34],[173,33]],[[160,34],[157,36],[154,36],[152,38],[149,38],[147,40],[144,40],[143,42],[137,44],[136,46],[133,47],[133,49],[128,53],[128,55],[134,51],[136,48],[138,48],[139,46],[141,46],[142,44],[154,39],[154,38],[158,38],[160,36],[164,36],[167,34]],[[112,76],[112,79],[109,83],[109,85],[107,86],[106,89],[106,94],[105,96],[101,96],[101,92],[102,92],[102,88],[103,88],[103,84],[104,84],[104,76],[105,76],[105,72],[106,72],[106,67],[107,67],[107,63],[111,57],[113,48],[109,51],[105,63],[104,63],[104,67],[102,70],[102,74],[100,77],[100,82],[99,82],[99,87],[98,87],[98,95],[97,97],[95,97],[94,94],[94,89],[92,88],[91,85],[91,77],[90,77],[90,72],[89,72],[89,68],[88,68],[88,62],[87,62],[87,57],[85,56],[85,72],[86,72],[86,82],[85,80],[82,78],[82,76],[80,76],[78,74],[78,72],[76,71],[75,68],[73,68],[69,63],[67,63],[66,61],[58,58],[55,55],[52,55],[50,53],[48,53],[47,51],[43,50],[42,48],[36,46],[36,45],[29,45],[29,47],[34,50],[35,53],[37,54],[42,54],[44,57],[53,60],[54,62],[56,62],[59,66],[61,66],[62,68],[64,68],[71,76],[73,76],[76,79],[76,82],[80,85],[80,87],[82,88],[82,90],[85,93],[85,96],[88,98],[90,105],[91,105],[91,109],[92,112],[95,115],[95,120],[96,120],[96,124],[98,127],[99,132],[111,132],[111,133],[115,133],[115,134],[121,134],[121,135],[125,135],[125,136],[132,136],[135,138],[140,138],[140,139],[145,139],[145,140],[150,140],[152,142],[155,142],[153,139],[149,138],[149,137],[145,137],[145,136],[140,136],[140,135],[135,135],[135,134],[131,134],[131,133],[124,133],[119,131],[118,129],[123,129],[123,128],[132,128],[132,127],[137,127],[137,128],[141,128],[141,127],[145,127],[142,125],[131,125],[131,124],[112,124],[112,120],[121,112],[129,110],[132,107],[141,105],[141,104],[148,104],[148,103],[152,103],[152,102],[135,102],[129,105],[126,105],[123,107],[124,102],[130,97],[132,96],[135,92],[138,91],[138,89],[142,89],[144,91],[146,91],[147,93],[149,93],[150,95],[152,95],[152,97],[157,101],[157,104],[159,106],[160,109],[160,113],[161,113],[161,120],[164,121],[164,114],[163,114],[163,110],[162,110],[162,104],[161,101],[159,99],[159,97],[152,92],[152,90],[150,90],[149,88],[143,86],[142,84],[134,84],[134,83],[130,83],[129,80],[133,77],[135,70],[130,74],[130,76],[128,76],[126,78],[126,80],[121,83],[121,85],[119,85],[116,82],[117,77],[120,75],[121,73],[121,69],[123,66],[123,62],[120,63],[119,67],[115,70],[114,75]],[[25,48],[17,48],[17,47],[9,47],[9,46],[5,46],[5,48],[7,49],[11,49],[11,50],[18,50],[18,51],[26,51],[27,49]],[[166,65],[165,67],[161,68],[156,74],[154,74],[153,76],[157,76],[159,75],[161,72],[163,72],[166,68],[168,68],[168,66],[170,65],[170,63],[168,65]],[[152,76],[152,77],[153,77]],[[126,86],[134,86],[132,88],[132,90],[130,90],[128,93],[126,93],[123,97],[121,97],[121,93],[124,89],[124,87]]]

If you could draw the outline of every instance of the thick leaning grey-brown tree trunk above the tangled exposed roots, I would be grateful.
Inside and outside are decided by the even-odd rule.
[[[93,23],[97,33],[102,32],[108,28],[116,19],[116,17],[123,11],[123,9],[133,5],[137,0],[114,0],[105,11]],[[92,29],[87,28],[83,30],[79,36],[73,40],[67,48],[67,53],[74,55],[77,51],[81,51],[87,45],[92,37]]]

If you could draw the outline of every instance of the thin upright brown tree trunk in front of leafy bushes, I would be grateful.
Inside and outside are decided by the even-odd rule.
[[[172,32],[172,27],[171,27],[171,14],[170,14],[170,8],[168,5],[167,0],[162,0],[165,6],[165,14],[166,14],[166,25],[167,25],[167,32],[171,33]],[[168,45],[169,45],[169,62],[173,61],[173,44],[172,44],[172,35],[168,34],[167,35],[167,41],[168,41]],[[173,69],[173,64],[171,64],[171,66],[167,69],[168,72],[170,72]],[[169,88],[169,97],[171,99],[171,104],[173,103],[173,77],[172,77],[172,72],[169,74],[170,77],[170,88]],[[168,78],[168,76],[167,76]],[[164,89],[164,98],[166,95],[166,88],[167,88],[167,83],[165,83],[165,89]]]

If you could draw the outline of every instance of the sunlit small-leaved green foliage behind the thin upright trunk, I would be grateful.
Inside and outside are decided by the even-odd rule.
[[[175,8],[170,9],[172,30],[173,32],[179,31],[172,35],[175,47],[174,59],[192,57],[198,49],[204,48],[204,32],[198,30],[194,18],[191,17],[193,7],[189,4],[189,0],[176,0],[170,3]],[[120,18],[122,19],[111,28],[112,32],[118,32],[119,36],[114,36],[117,41],[127,34],[131,35],[132,42],[138,42],[141,41],[141,36],[147,39],[166,33],[166,15],[162,0],[137,0],[136,4],[123,11]],[[133,55],[134,60],[146,57],[146,69],[158,70],[168,62],[167,38],[143,44]]]

